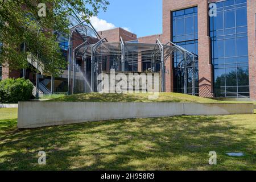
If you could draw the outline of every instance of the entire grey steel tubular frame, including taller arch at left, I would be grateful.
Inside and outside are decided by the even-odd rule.
[[[89,27],[89,28],[88,28]],[[90,31],[90,32],[89,32]],[[89,34],[88,34],[89,32]],[[82,43],[74,47],[73,36],[82,38]],[[91,39],[91,36],[94,36]],[[67,36],[64,36],[67,38]],[[75,38],[78,39],[78,38]],[[92,41],[88,41],[88,39]],[[150,64],[151,72],[160,72],[161,78],[161,92],[166,91],[166,68],[165,63],[169,57],[179,57],[178,68],[183,69],[184,72],[184,93],[187,93],[187,67],[191,65],[192,67],[192,94],[195,95],[195,57],[196,55],[187,51],[186,49],[177,46],[172,42],[167,42],[162,44],[160,40],[156,40],[155,44],[145,44],[145,43],[131,43],[123,42],[122,37],[119,42],[109,43],[106,38],[101,39],[94,30],[93,26],[85,22],[77,22],[76,26],[70,28],[70,33],[68,35],[68,93],[74,93],[75,90],[75,80],[76,80],[76,60],[77,58],[89,58],[91,61],[91,78],[90,86],[92,92],[97,92],[96,81],[97,73],[100,73],[102,70],[99,68],[98,63],[104,63],[105,60],[102,59],[104,56],[111,57],[115,69],[117,71],[125,72],[127,71],[127,66],[132,68],[133,72],[137,72],[136,67],[140,63]],[[97,57],[97,59],[96,59]],[[113,58],[114,57],[114,58]],[[115,63],[117,61],[117,63]],[[156,69],[156,65],[159,65]],[[70,90],[71,84],[71,68],[73,67],[72,75],[72,90]],[[121,68],[120,68],[121,67]],[[85,71],[86,72],[86,71]],[[71,92],[72,91],[72,92]]]

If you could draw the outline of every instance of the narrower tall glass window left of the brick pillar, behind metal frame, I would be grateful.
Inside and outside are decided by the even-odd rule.
[[[172,41],[187,49],[190,52],[198,54],[198,35],[197,35],[197,7],[172,12]],[[174,56],[174,90],[175,92],[184,92],[183,77],[184,72],[178,69],[180,61],[179,56]],[[198,67],[198,63],[196,63]],[[198,68],[196,67],[196,92],[198,94]],[[192,94],[192,76],[191,69],[188,68],[187,92]]]

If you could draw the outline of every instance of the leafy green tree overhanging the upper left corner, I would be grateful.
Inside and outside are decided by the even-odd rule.
[[[29,53],[39,56],[44,72],[59,75],[67,63],[52,30],[68,33],[67,15],[77,14],[89,21],[108,5],[107,0],[0,0],[0,64],[27,68]],[[26,51],[20,51],[23,43]]]

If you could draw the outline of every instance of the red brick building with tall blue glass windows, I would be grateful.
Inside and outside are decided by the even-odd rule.
[[[210,16],[209,10],[215,10],[214,7],[216,16]],[[138,43],[171,40],[198,56],[196,93],[199,96],[255,100],[255,11],[256,0],[163,0],[163,34],[137,38],[122,28],[98,34],[109,42],[119,42],[120,37],[125,42]],[[183,72],[176,69],[176,64],[175,57],[167,60],[166,92],[184,91]],[[2,78],[8,77],[6,68],[2,69]],[[137,71],[141,71],[139,65]],[[11,75],[15,77],[17,73]],[[189,77],[187,92],[191,93]]]

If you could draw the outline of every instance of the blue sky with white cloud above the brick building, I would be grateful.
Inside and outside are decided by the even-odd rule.
[[[162,0],[109,0],[106,12],[90,19],[97,31],[122,27],[137,37],[162,34]]]

